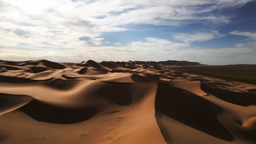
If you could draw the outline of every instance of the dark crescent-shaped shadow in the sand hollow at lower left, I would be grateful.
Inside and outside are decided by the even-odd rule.
[[[56,124],[73,124],[83,122],[92,118],[97,109],[86,108],[59,108],[33,100],[19,108],[31,118],[40,122],[50,122]]]

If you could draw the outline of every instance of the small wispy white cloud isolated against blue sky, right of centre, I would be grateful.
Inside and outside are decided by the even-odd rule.
[[[174,38],[181,40],[185,43],[190,42],[203,42],[206,40],[210,40],[213,38],[219,38],[225,36],[224,34],[220,34],[216,30],[212,30],[211,32],[196,32],[193,34],[186,34],[186,33],[180,33],[180,34],[174,34]]]

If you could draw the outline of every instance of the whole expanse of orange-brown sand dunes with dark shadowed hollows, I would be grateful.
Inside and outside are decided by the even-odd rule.
[[[253,144],[256,86],[165,65],[0,61],[1,144]]]

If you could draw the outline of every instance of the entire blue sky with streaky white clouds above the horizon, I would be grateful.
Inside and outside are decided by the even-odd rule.
[[[0,0],[0,59],[256,64],[256,0]]]

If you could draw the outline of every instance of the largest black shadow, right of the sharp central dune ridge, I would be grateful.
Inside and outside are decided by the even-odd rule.
[[[216,138],[234,140],[230,132],[216,118],[216,114],[222,112],[221,108],[191,92],[159,82],[155,108],[156,111],[170,118]]]

